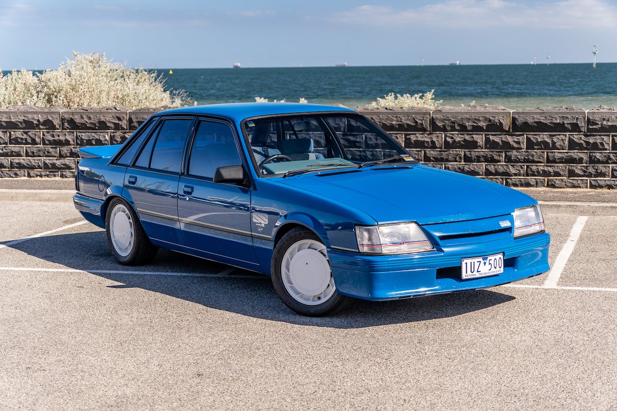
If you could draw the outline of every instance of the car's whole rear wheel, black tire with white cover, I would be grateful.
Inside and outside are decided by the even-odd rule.
[[[159,250],[144,232],[137,214],[126,201],[114,198],[105,219],[107,243],[120,264],[138,266],[151,262]]]

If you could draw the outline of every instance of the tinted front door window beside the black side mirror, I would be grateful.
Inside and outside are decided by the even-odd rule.
[[[188,174],[213,179],[219,167],[239,166],[242,160],[228,124],[200,121],[189,157]]]

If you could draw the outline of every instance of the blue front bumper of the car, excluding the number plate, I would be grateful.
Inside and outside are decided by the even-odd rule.
[[[494,287],[549,271],[547,233],[444,247],[419,254],[371,256],[329,250],[336,290],[342,295],[382,301]],[[462,280],[462,258],[504,253],[503,273]]]

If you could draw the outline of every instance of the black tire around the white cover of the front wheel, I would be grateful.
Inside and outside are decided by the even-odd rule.
[[[354,301],[353,298],[339,294],[336,289],[326,301],[317,305],[303,304],[294,298],[283,283],[283,275],[281,274],[281,265],[286,251],[300,240],[321,240],[312,231],[302,229],[300,227],[290,230],[276,244],[271,263],[272,284],[276,294],[281,298],[283,303],[298,314],[307,315],[309,317],[322,317],[324,315],[336,314],[346,309],[349,304]],[[323,243],[322,243],[323,244]],[[329,261],[328,261],[329,264]],[[335,287],[336,288],[336,287]]]

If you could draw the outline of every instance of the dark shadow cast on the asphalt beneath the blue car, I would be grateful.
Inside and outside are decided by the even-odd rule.
[[[364,328],[455,317],[515,299],[496,291],[478,290],[423,298],[371,302],[355,300],[346,311],[329,317],[304,317],[289,310],[276,295],[268,277],[238,269],[218,277],[191,274],[221,273],[230,266],[160,250],[148,266],[126,267],[115,262],[104,231],[50,235],[10,246],[30,257],[21,256],[22,267],[56,267],[89,272],[120,283],[109,288],[141,288],[191,301],[213,309],[250,317],[332,328]],[[57,265],[41,264],[36,259]],[[173,275],[130,274],[170,272]],[[177,275],[177,273],[184,275]]]

